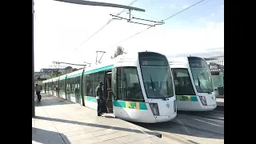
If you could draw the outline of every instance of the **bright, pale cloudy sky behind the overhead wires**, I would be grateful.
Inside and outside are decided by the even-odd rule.
[[[133,1],[94,2],[128,6]],[[160,21],[198,1],[137,0],[132,6],[142,8],[146,12],[132,11],[131,16]],[[191,54],[200,57],[224,54],[224,0],[206,0],[166,20],[165,24],[148,30],[145,30],[148,26],[126,20],[114,20],[90,38],[113,18],[110,14],[118,14],[120,11],[120,8],[34,0],[34,70],[54,66],[52,62],[94,64],[97,50],[106,51],[102,57],[102,62],[106,62],[114,55],[117,46],[124,47],[126,53],[148,50],[166,54],[168,58]],[[127,12],[120,16],[129,18]],[[146,21],[143,23],[152,24]],[[137,34],[142,30],[145,31]],[[134,34],[137,35],[129,38]],[[90,39],[85,42],[87,38]],[[129,39],[122,42],[126,38]]]

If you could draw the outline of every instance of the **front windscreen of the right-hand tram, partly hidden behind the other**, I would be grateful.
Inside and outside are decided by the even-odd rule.
[[[188,57],[194,85],[198,93],[211,93],[214,91],[209,66],[202,58]]]

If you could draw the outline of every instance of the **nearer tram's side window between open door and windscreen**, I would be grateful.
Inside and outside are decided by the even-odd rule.
[[[135,67],[118,68],[118,96],[123,101],[144,102]]]

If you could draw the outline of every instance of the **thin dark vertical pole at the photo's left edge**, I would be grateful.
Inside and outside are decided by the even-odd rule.
[[[32,117],[34,115],[34,0],[32,0]]]

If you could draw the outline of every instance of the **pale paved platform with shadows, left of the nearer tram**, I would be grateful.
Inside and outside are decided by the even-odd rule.
[[[42,102],[35,101],[35,114],[32,143],[176,143],[158,138],[152,130],[106,114],[98,117],[96,110],[45,94]]]

